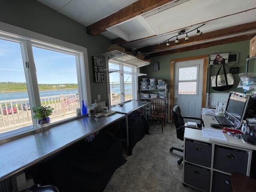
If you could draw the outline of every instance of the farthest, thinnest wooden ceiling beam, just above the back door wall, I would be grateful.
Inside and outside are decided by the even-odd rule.
[[[150,54],[150,57],[163,56],[163,55],[168,55],[168,54],[180,53],[180,52],[191,51],[191,50],[196,50],[196,49],[208,48],[208,47],[217,46],[217,45],[223,45],[223,44],[228,44],[228,43],[250,40],[255,35],[256,35],[255,33],[240,35],[240,36],[236,36],[236,37],[215,40],[215,41],[206,42],[206,43],[202,43],[202,44],[196,44],[196,45],[192,45],[192,46],[186,46],[186,47],[182,47],[182,48],[156,52],[156,53]]]

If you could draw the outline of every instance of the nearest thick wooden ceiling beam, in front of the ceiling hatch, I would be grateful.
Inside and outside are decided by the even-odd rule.
[[[172,1],[174,0],[138,0],[133,4],[122,8],[118,12],[87,26],[86,32],[92,36],[99,34],[106,31],[106,28],[112,27]]]

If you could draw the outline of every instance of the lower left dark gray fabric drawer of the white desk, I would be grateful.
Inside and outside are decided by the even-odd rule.
[[[198,189],[210,190],[211,172],[206,168],[185,163],[184,182]]]

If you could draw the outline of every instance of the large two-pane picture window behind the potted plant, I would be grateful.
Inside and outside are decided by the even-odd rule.
[[[81,49],[0,32],[0,139],[41,128],[33,107],[54,108],[54,123],[76,116],[82,100],[90,102]]]

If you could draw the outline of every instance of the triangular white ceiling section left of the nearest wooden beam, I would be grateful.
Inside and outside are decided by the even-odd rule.
[[[56,11],[88,26],[137,0],[38,0]]]

